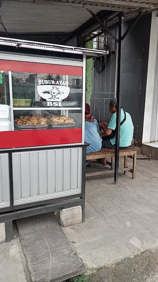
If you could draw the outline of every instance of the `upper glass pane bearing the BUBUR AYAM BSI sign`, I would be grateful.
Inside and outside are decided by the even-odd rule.
[[[12,72],[14,107],[81,107],[82,77],[46,73]],[[66,90],[66,92],[65,92]],[[67,95],[68,94],[68,95]],[[39,102],[51,102],[41,104]]]

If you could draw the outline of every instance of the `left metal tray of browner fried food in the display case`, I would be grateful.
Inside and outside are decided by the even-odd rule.
[[[40,114],[21,116],[20,118],[15,118],[14,122],[20,130],[48,128],[47,118],[42,117]]]

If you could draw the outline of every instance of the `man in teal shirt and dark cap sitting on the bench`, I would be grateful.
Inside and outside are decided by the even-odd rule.
[[[109,110],[113,114],[109,124],[106,122],[100,124],[100,129],[103,129],[104,133],[106,134],[105,137],[102,137],[102,148],[114,149],[115,136],[113,138],[110,138],[110,135],[116,128],[117,98],[111,99],[109,104]],[[124,114],[124,110],[121,108],[120,122],[123,121],[124,118],[126,118],[126,120],[120,126],[120,144],[119,144],[120,148],[129,147],[133,139],[134,126],[131,116],[128,112],[125,112]]]

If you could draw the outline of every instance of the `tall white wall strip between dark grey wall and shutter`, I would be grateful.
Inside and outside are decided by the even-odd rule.
[[[158,42],[158,17],[156,17],[156,15],[157,11],[152,12],[142,143],[150,142],[152,99],[154,90],[156,52]]]

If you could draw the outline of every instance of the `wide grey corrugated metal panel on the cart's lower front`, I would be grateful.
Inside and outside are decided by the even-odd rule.
[[[12,154],[14,199],[81,188],[82,148]]]

